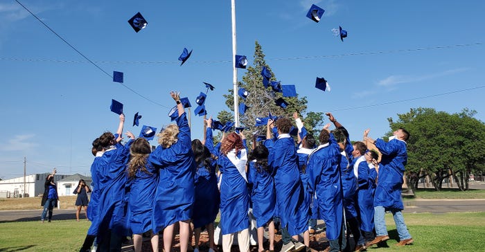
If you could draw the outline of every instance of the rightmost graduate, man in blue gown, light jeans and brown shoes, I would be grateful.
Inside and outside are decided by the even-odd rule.
[[[403,128],[397,129],[389,142],[382,139],[374,141],[367,136],[369,129],[364,132],[364,140],[373,143],[382,154],[378,171],[378,183],[374,195],[374,224],[376,226],[376,239],[371,244],[378,244],[389,240],[387,227],[384,219],[385,210],[389,210],[394,217],[396,229],[399,234],[398,246],[409,245],[414,242],[407,226],[404,223],[403,199],[401,190],[403,186],[403,175],[407,163],[407,143],[409,132]]]

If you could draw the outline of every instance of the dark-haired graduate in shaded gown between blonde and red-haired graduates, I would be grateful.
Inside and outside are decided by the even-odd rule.
[[[217,156],[209,150],[213,149],[212,140],[212,118],[204,120],[206,133],[204,134],[204,144],[199,139],[192,141],[192,151],[194,153],[197,170],[195,171],[195,202],[192,215],[194,226],[195,249],[199,251],[199,239],[201,229],[207,228],[209,235],[209,252],[214,252],[214,221],[219,213],[220,193],[218,189],[218,179],[215,176],[217,166]]]

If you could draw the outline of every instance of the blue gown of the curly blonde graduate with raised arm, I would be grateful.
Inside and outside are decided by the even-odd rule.
[[[179,127],[177,143],[168,148],[159,145],[148,157],[148,161],[159,169],[153,206],[155,232],[192,217],[195,161],[191,129],[185,112],[175,120]]]

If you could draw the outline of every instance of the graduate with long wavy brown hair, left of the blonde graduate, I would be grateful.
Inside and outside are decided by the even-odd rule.
[[[152,207],[158,182],[158,170],[148,163],[152,146],[145,138],[136,138],[130,146],[127,167],[129,224],[133,233],[134,251],[140,252],[143,233],[150,232],[152,251],[158,251],[159,235],[152,231]]]

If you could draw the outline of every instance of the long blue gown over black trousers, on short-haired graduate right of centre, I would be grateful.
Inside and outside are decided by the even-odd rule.
[[[330,138],[333,139],[333,135]],[[331,140],[329,145],[320,145],[308,160],[310,183],[315,188],[319,219],[326,224],[328,240],[337,240],[342,227],[341,158],[340,147]]]

